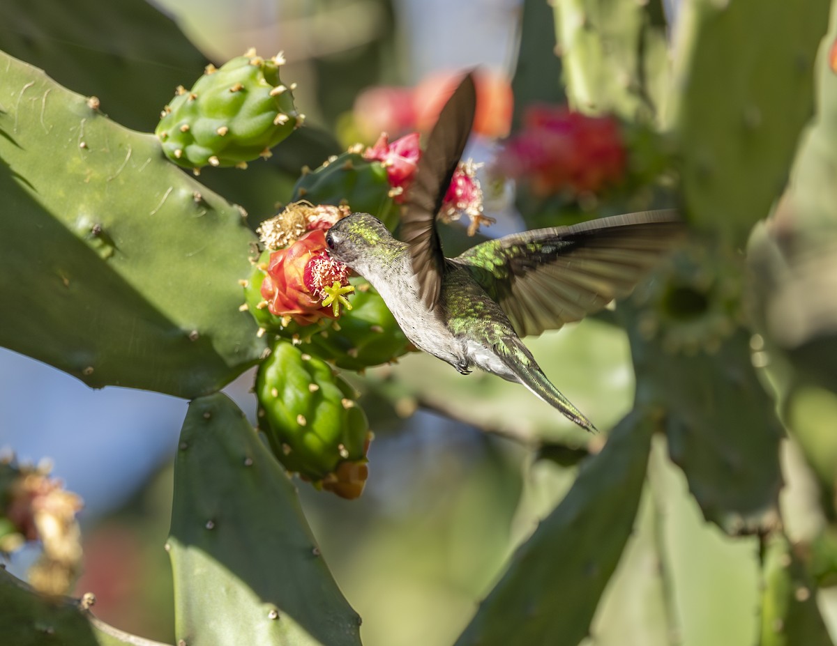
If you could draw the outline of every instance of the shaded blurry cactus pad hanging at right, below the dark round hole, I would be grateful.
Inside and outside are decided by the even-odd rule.
[[[776,517],[783,430],[758,381],[750,335],[732,333],[714,351],[667,351],[629,332],[637,398],[667,412],[671,459],[686,473],[707,520],[731,534]]]

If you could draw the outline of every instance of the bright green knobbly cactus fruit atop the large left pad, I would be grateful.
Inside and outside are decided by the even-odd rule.
[[[294,85],[282,85],[280,55],[262,59],[250,50],[223,64],[208,65],[192,90],[177,95],[162,112],[155,134],[178,166],[245,167],[285,139],[305,119],[294,107]]]

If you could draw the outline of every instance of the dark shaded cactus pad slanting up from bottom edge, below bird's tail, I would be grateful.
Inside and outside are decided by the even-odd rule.
[[[655,425],[630,413],[573,488],[516,551],[456,646],[574,646],[628,541]]]

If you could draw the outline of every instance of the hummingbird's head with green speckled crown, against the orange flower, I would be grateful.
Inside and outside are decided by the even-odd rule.
[[[395,238],[383,223],[369,213],[352,213],[326,232],[331,258],[361,275],[367,262],[376,262],[382,253],[391,252],[394,243]]]

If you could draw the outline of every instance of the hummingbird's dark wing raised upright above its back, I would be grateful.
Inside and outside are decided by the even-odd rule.
[[[465,150],[475,108],[474,78],[466,74],[430,131],[427,148],[404,199],[401,239],[409,245],[419,290],[430,309],[439,300],[445,262],[436,232],[436,214]]]

